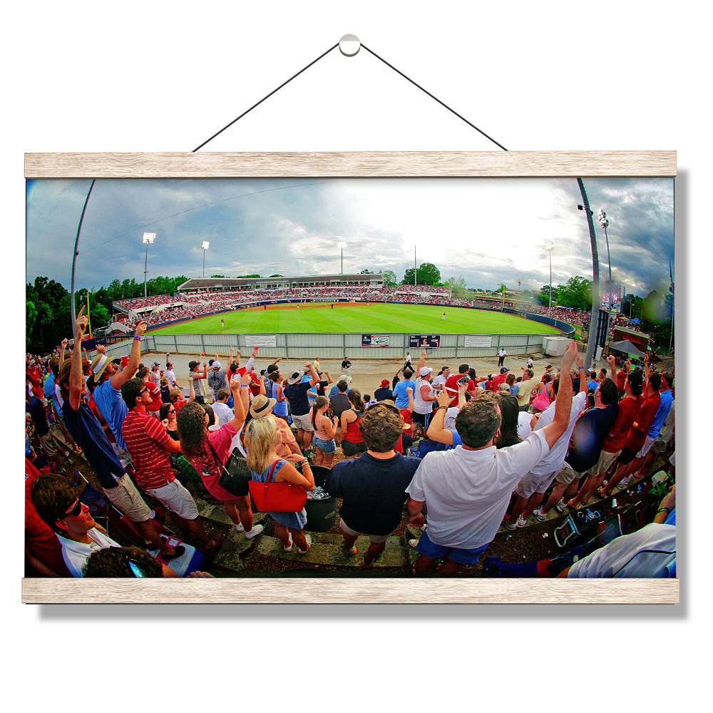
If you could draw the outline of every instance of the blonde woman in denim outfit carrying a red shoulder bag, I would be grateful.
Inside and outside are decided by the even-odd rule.
[[[245,448],[247,449],[247,467],[250,468],[252,479],[259,483],[292,483],[302,486],[306,491],[314,490],[312,467],[304,456],[292,453],[286,460],[275,453],[277,443],[277,424],[270,419],[252,419],[247,424],[245,433]],[[294,464],[302,463],[302,473]],[[303,474],[304,473],[304,474]],[[292,542],[297,543],[297,553],[306,555],[311,538],[304,534],[307,525],[307,511],[302,508],[294,513],[267,513],[275,520],[275,535],[282,543],[285,552],[292,550]]]

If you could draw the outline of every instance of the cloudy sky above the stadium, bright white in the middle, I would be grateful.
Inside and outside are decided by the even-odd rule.
[[[27,188],[26,281],[70,286],[76,230],[90,180],[34,180]],[[673,182],[588,178],[590,205],[607,212],[612,277],[645,296],[667,289],[673,261]],[[393,270],[433,262],[468,287],[592,277],[588,225],[575,178],[98,180],[84,217],[76,289],[143,282],[144,231],[155,232],[148,277],[262,276]],[[607,245],[595,215],[602,279]],[[674,266],[675,278],[675,266]]]

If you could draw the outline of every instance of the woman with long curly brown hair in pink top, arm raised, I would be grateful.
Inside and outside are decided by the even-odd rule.
[[[235,529],[250,539],[262,532],[262,525],[252,525],[252,508],[250,493],[235,495],[222,488],[218,481],[223,472],[223,466],[230,458],[230,446],[237,432],[245,423],[245,412],[249,396],[248,384],[252,377],[244,374],[241,381],[230,379],[230,391],[235,402],[235,418],[221,426],[217,431],[208,431],[209,416],[205,409],[196,401],[183,406],[178,411],[178,436],[183,455],[188,458],[203,481],[207,491],[222,501],[228,517],[235,523]]]

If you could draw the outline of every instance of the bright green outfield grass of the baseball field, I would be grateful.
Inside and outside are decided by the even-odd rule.
[[[446,319],[441,319],[443,310]],[[225,329],[220,319],[225,319]],[[558,329],[530,319],[483,309],[424,304],[329,304],[297,309],[237,309],[197,317],[151,334],[294,334],[347,332],[356,334],[560,334]]]

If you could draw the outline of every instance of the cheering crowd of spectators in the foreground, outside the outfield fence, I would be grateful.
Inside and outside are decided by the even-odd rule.
[[[82,309],[76,344],[86,324]],[[231,453],[238,461],[243,456],[252,481],[291,483],[310,493],[312,464],[332,466],[339,448],[342,461],[324,490],[342,500],[344,555],[356,555],[358,536],[368,535],[360,564],[373,567],[406,512],[421,529],[409,541],[419,552],[416,576],[455,575],[478,562],[501,528],[517,532],[545,520],[551,508],[564,513],[586,506],[595,493],[610,496],[647,476],[659,453],[671,454],[675,465],[673,375],[651,371],[647,359],[643,369],[628,361],[617,368],[613,356],[608,368],[586,369],[570,342],[560,368],[548,366],[539,377],[531,359],[522,374],[511,374],[504,350],[496,374],[477,376],[460,364],[434,375],[424,351],[416,366],[407,354],[391,384],[381,381],[372,397],[350,388],[346,355],[336,379],[319,359],[289,369],[274,359],[258,369],[257,347],[243,366],[233,349],[225,365],[217,354],[190,361],[179,379],[167,361],[162,378],[158,362],[140,364],[145,329],[145,322],[137,324],[131,354],[114,361],[101,346],[91,359],[80,350],[67,353],[66,340],[56,356],[27,355],[29,575],[133,576],[138,569],[143,576],[175,576],[155,558],[179,560],[187,545],[170,546],[158,536],[150,522],[158,504],[203,553],[215,553],[220,544],[206,532],[187,487],[192,478],[222,502],[237,533],[259,536],[249,478],[224,478]],[[180,381],[188,384],[188,399]],[[101,492],[89,483],[81,491],[62,472],[56,454],[63,443],[86,459]],[[48,463],[42,473],[33,465],[41,457]],[[125,515],[138,548],[122,547],[96,522],[103,496]],[[294,545],[299,555],[309,551],[304,508],[267,514],[285,552]],[[652,525],[563,574],[673,576],[674,539],[675,490]],[[652,548],[655,558],[640,557]],[[618,568],[622,552],[626,561]]]

